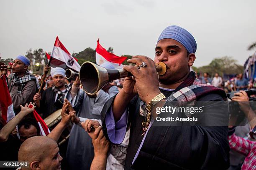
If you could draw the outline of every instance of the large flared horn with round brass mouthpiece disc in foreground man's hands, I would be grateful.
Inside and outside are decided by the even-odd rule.
[[[166,65],[156,63],[156,71],[164,75]],[[87,95],[95,95],[107,83],[129,76],[132,76],[131,72],[124,69],[106,69],[90,61],[84,62],[79,72],[80,83]]]

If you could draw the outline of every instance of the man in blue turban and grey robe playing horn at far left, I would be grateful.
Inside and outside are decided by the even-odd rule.
[[[36,77],[29,74],[28,57],[19,55],[13,62],[13,74],[9,77],[9,92],[12,97],[13,109],[15,114],[20,112],[20,105],[33,101],[36,89],[39,88]]]

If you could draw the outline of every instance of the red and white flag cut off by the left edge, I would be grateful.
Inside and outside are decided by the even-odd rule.
[[[6,75],[2,75],[0,78],[0,109],[2,113],[2,118],[4,123],[9,122],[13,117],[15,117],[13,111],[13,102],[10,97],[10,93],[7,87]]]

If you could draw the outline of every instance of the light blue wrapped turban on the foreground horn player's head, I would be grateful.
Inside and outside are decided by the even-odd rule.
[[[157,42],[162,39],[169,38],[180,42],[190,53],[195,53],[197,50],[197,42],[195,38],[184,28],[176,25],[171,25],[163,30]]]

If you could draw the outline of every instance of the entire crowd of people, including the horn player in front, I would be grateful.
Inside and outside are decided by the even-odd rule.
[[[63,68],[45,67],[44,74],[50,74],[41,82],[43,76],[29,74],[30,60],[16,57],[13,73],[0,73],[8,75],[15,112],[6,123],[0,117],[0,161],[28,162],[22,170],[256,169],[255,109],[243,103],[250,97],[244,90],[256,83],[242,74],[226,82],[218,73],[196,78],[190,72],[196,49],[187,30],[169,26],[159,36],[154,60],[133,56],[128,62],[136,66],[123,67],[133,77],[109,82],[93,96],[84,92],[79,77],[65,78]],[[166,65],[164,75],[156,72],[159,61]],[[100,66],[114,69],[110,62]],[[154,125],[156,107],[225,101],[231,91],[248,119],[245,126]],[[61,120],[47,136],[40,133],[34,110],[43,119],[59,111]],[[218,102],[206,103],[204,114],[205,122],[229,117],[228,107]],[[59,143],[69,126],[68,137]]]

